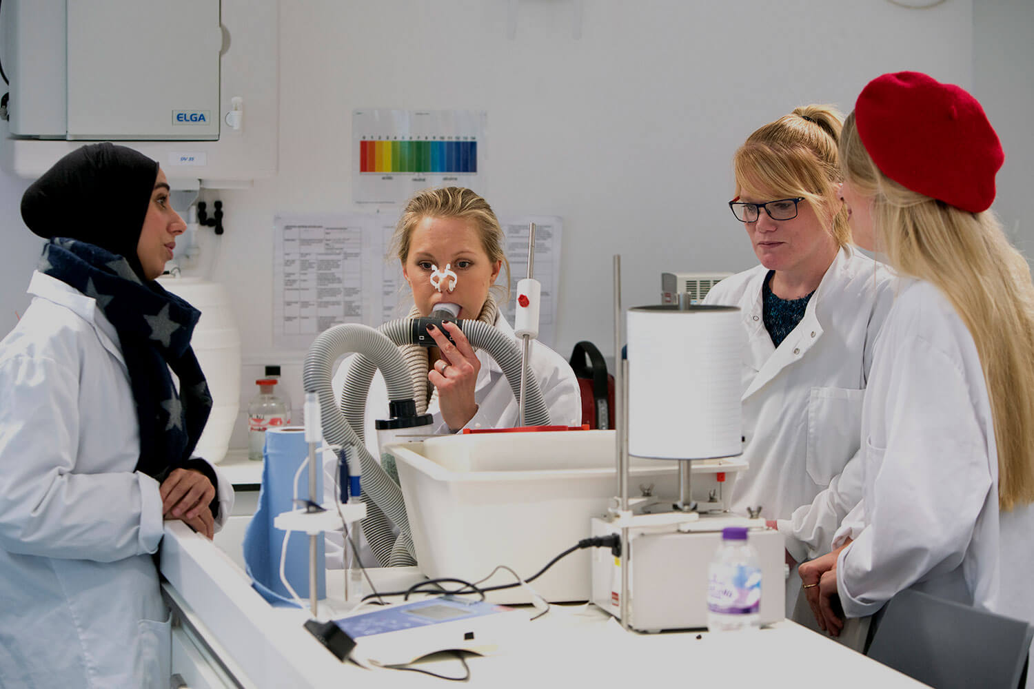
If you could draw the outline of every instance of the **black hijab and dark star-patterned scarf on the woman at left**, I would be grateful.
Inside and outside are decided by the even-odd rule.
[[[158,163],[132,149],[84,146],[26,190],[22,218],[50,240],[37,270],[93,297],[119,335],[140,426],[136,470],[162,481],[197,469],[216,486],[211,466],[191,459],[212,408],[190,348],[201,312],[148,280],[136,255],[157,176]]]

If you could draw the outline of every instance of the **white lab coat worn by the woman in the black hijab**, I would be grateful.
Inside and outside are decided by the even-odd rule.
[[[0,685],[165,689],[161,497],[134,471],[118,336],[59,280],[35,273],[29,292],[0,342]],[[218,494],[224,519],[221,476]]]

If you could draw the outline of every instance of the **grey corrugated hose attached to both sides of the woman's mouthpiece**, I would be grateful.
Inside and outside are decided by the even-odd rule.
[[[389,320],[377,331],[387,335],[397,345],[414,344],[413,321],[413,318]],[[472,345],[491,354],[495,363],[503,369],[503,374],[507,377],[507,382],[510,383],[510,388],[514,393],[514,399],[520,399],[521,354],[517,343],[495,326],[480,320],[460,321],[460,330],[463,331],[463,335],[466,336]],[[356,430],[360,438],[363,437],[366,398],[369,395],[370,383],[373,381],[373,373],[377,368],[369,357],[359,355],[353,358],[348,373],[345,375],[341,411],[344,412],[344,418]],[[382,373],[383,371],[382,369]],[[387,376],[385,380],[387,380]],[[527,382],[527,401],[524,407],[525,421],[528,426],[549,426],[549,408],[542,397],[539,380],[535,376],[528,376]],[[388,397],[394,399],[391,397],[390,388]]]

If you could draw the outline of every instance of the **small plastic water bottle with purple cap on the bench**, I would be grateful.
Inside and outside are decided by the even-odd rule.
[[[756,629],[760,604],[758,553],[747,542],[746,527],[727,527],[708,570],[707,630]]]

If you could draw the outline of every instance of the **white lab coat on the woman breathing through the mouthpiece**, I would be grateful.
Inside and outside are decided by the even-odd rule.
[[[496,316],[495,327],[509,335],[515,342],[520,343],[520,339],[514,334],[513,326],[507,322],[501,313]],[[474,389],[474,400],[478,404],[478,412],[464,428],[500,429],[517,426],[519,416],[517,400],[507,377],[503,375],[503,369],[484,349],[478,349],[477,355],[478,361],[481,362],[481,370],[478,372],[478,380]],[[581,426],[581,392],[578,387],[578,379],[575,377],[574,371],[571,370],[571,365],[555,351],[538,341],[531,342],[528,359],[531,372],[539,381],[546,407],[549,409],[550,425]],[[332,387],[338,400],[341,399],[344,388],[349,362],[351,356],[341,363],[334,375]],[[427,413],[432,414],[434,420],[426,433],[445,435],[450,432],[448,424],[442,419],[442,411],[438,408],[436,397],[428,405]],[[377,460],[381,459],[381,455],[374,421],[387,417],[388,386],[385,384],[384,376],[377,371],[370,384],[369,396],[366,398],[364,422],[366,448]],[[333,455],[327,453],[324,462],[324,497],[327,502],[334,499],[335,467],[336,460]],[[331,568],[343,566],[341,535],[328,532],[326,540],[327,566]],[[372,554],[366,547],[365,540],[363,541],[362,559],[363,562],[373,562]]]

